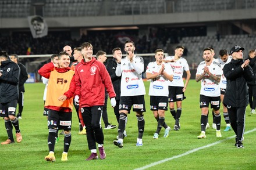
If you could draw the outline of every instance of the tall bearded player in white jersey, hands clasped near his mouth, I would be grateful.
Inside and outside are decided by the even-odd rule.
[[[134,55],[134,42],[125,42],[126,57],[119,59],[116,67],[116,75],[121,76],[121,95],[119,103],[119,124],[118,124],[118,140],[113,143],[118,147],[123,147],[123,131],[125,131],[125,124],[127,114],[130,113],[131,106],[136,112],[138,123],[138,138],[136,146],[143,146],[142,137],[144,133],[144,115],[145,112],[145,86],[141,77],[144,71],[144,60],[140,56]]]

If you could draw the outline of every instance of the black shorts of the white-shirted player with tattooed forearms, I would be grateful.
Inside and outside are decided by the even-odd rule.
[[[221,104],[221,96],[218,97],[208,97],[204,95],[200,95],[200,108],[209,107],[209,103],[211,103],[211,108],[215,110],[219,110]]]

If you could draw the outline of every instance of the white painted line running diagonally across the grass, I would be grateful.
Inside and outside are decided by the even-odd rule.
[[[254,128],[254,129],[252,129],[252,130],[250,130],[250,131],[247,131],[247,132],[245,132],[244,134],[251,133],[251,132],[254,132],[254,131],[256,131],[256,128]],[[195,149],[193,149],[193,150],[187,151],[186,153],[183,153],[183,154],[176,155],[176,156],[174,156],[174,157],[170,157],[170,158],[166,158],[166,159],[161,160],[161,161],[153,162],[152,164],[145,165],[144,167],[136,168],[136,169],[134,169],[134,170],[143,170],[143,169],[151,168],[151,167],[154,167],[155,165],[162,164],[163,162],[167,162],[167,161],[170,161],[170,160],[174,160],[174,159],[176,159],[176,158],[180,158],[180,157],[186,156],[186,155],[188,155],[188,154],[194,153],[195,151],[198,151],[198,150],[201,150],[201,149],[205,149],[205,148],[207,148],[207,147],[214,146],[215,144],[222,143],[222,142],[224,142],[225,140],[233,139],[233,138],[235,138],[235,137],[236,137],[236,135],[230,136],[229,138],[226,138],[226,139],[223,139],[223,140],[219,140],[219,141],[217,141],[217,142],[214,142],[214,143],[211,143],[211,144],[207,144],[207,145],[202,146],[202,147],[195,148]]]

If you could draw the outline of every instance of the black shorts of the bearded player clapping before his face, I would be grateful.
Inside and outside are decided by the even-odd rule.
[[[140,96],[120,96],[119,110],[131,110],[133,106],[133,111],[145,112],[145,100],[144,95]]]

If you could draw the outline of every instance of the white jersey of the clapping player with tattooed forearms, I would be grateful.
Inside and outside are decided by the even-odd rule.
[[[201,62],[197,67],[196,74],[204,73],[204,67],[206,66],[205,62]],[[210,66],[207,66],[211,74],[221,75],[222,69],[221,65],[216,62],[212,62]],[[214,81],[209,78],[209,75],[206,74],[204,78],[201,79],[201,91],[200,95],[209,96],[209,97],[217,97],[221,96],[221,91],[219,90],[219,82]]]

